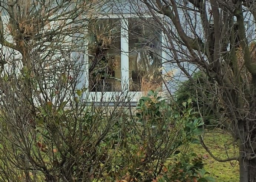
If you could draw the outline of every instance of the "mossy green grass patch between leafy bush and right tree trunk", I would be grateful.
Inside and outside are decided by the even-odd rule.
[[[238,153],[236,146],[232,144],[232,137],[221,130],[210,130],[204,134],[204,142],[209,147],[213,155],[220,159],[226,159],[227,154],[233,157]],[[193,145],[196,154],[203,157],[204,168],[216,182],[239,181],[239,162],[218,162],[214,160],[207,151],[200,145]]]

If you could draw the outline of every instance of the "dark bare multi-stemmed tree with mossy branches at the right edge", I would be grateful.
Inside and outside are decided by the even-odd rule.
[[[240,181],[256,181],[255,1],[141,0],[134,7],[137,3],[144,4],[140,7],[162,28],[166,61],[177,64],[198,99],[211,108],[239,146],[237,157],[213,157],[239,160]],[[143,16],[142,8],[134,9]],[[207,90],[193,79],[184,62],[202,72]],[[214,97],[207,98],[206,92]]]

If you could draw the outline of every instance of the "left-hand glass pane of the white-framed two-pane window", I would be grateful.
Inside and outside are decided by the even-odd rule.
[[[121,26],[117,19],[101,19],[88,26],[89,90],[121,91]]]

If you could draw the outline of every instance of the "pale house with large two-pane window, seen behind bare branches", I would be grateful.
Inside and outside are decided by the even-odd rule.
[[[55,1],[52,2],[52,6],[54,6]],[[169,71],[176,71],[173,80],[168,82],[170,85],[167,86],[171,92],[174,92],[175,84],[177,86],[177,82],[185,80],[186,76],[181,73],[175,62],[171,61],[172,53],[168,51],[168,41],[163,27],[157,25],[147,8],[140,3],[138,4],[138,1],[102,0],[99,2],[90,12],[90,18],[95,19],[86,23],[87,28],[83,29],[84,32],[81,32],[80,35],[76,32],[76,40],[73,41],[68,41],[73,39],[72,33],[66,35],[65,41],[72,42],[72,44],[63,43],[62,45],[66,46],[67,49],[74,47],[74,44],[81,47],[79,50],[72,51],[70,57],[82,63],[82,72],[79,75],[77,88],[86,88],[83,94],[84,99],[88,103],[93,101],[96,103],[115,103],[121,97],[129,96],[127,100],[135,104],[139,97],[150,89],[165,92],[166,85],[162,82],[162,75],[166,75],[166,72]],[[2,20],[4,25],[7,25],[8,13],[4,12],[4,9],[2,11]],[[57,15],[58,13],[55,13],[52,17]],[[163,21],[170,21],[165,20],[163,16],[161,18]],[[184,21],[182,23],[185,26],[184,30],[188,28],[186,33],[190,34],[182,10],[180,11],[180,18]],[[195,16],[195,18],[197,17]],[[66,22],[68,19],[66,18]],[[248,18],[249,21],[250,17]],[[51,31],[58,29],[58,23],[54,21],[49,26]],[[171,27],[169,28],[171,29]],[[200,25],[197,29],[198,32],[201,31]],[[174,28],[173,32],[175,31]],[[79,36],[81,37],[80,40],[77,39]],[[255,36],[251,37],[253,40]],[[10,42],[13,41],[12,37],[8,35],[5,38]],[[1,47],[1,51],[18,60],[21,57],[21,54],[13,52],[6,46]],[[58,59],[59,53],[54,54],[55,59]],[[52,58],[53,56],[49,58],[49,61]],[[45,65],[47,67],[47,64]],[[21,63],[17,61],[17,72],[19,72],[20,67]],[[195,65],[188,64],[186,61],[184,61],[183,67],[190,73],[196,70]],[[10,65],[7,64],[6,68],[10,69]],[[54,85],[54,82],[54,79],[49,80],[50,85]]]

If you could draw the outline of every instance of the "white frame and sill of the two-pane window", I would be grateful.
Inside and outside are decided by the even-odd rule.
[[[118,96],[118,98],[125,98],[128,96],[129,99],[125,99],[125,102],[137,103],[140,97],[144,94],[141,91],[129,91],[129,19],[141,18],[135,14],[122,14],[122,17],[114,15],[114,14],[106,14],[99,15],[98,19],[118,19],[121,23],[121,92],[120,91],[112,91],[112,92],[91,92],[89,89],[83,95],[83,99],[87,100],[87,102],[96,102],[96,103],[116,103],[119,100],[116,100],[114,96]],[[145,14],[143,18],[152,18],[151,15]],[[86,30],[88,32],[88,29]],[[163,50],[165,45],[165,34],[164,31],[161,30],[161,62],[163,64],[163,60],[167,58],[166,50]],[[89,56],[88,56],[88,39],[85,40],[85,73],[83,76],[85,77],[84,85],[86,88],[89,88]],[[163,65],[162,65],[163,66]],[[164,67],[164,66],[163,66]],[[164,90],[164,83],[162,83],[162,87]],[[160,92],[161,94],[162,92]]]

